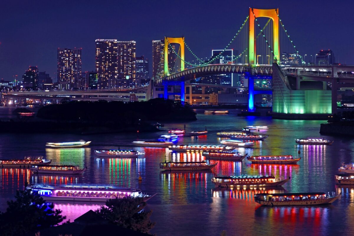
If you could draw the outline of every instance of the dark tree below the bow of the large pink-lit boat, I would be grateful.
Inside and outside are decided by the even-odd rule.
[[[152,211],[143,210],[145,206],[142,198],[114,198],[109,199],[96,213],[110,223],[148,233],[155,226],[155,222],[149,219]]]

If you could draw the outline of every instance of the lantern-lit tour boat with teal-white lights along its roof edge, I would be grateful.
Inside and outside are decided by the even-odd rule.
[[[275,178],[274,176],[239,175],[239,176],[216,176],[211,181],[219,187],[275,187],[288,182],[289,178]]]

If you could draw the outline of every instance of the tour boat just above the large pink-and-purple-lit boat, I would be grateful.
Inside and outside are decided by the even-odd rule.
[[[33,171],[34,174],[82,174],[87,168],[80,169],[80,166],[74,165],[32,165],[29,169]]]

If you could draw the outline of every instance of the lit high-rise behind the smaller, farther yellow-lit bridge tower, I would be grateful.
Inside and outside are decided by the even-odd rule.
[[[153,40],[153,54],[152,54],[152,65],[153,65],[153,77],[160,78],[164,76],[164,65],[165,65],[165,57],[164,57],[164,47],[165,41],[162,40]],[[169,71],[175,68],[176,62],[176,54],[173,52],[176,51],[176,46],[171,44],[168,50],[169,54]]]

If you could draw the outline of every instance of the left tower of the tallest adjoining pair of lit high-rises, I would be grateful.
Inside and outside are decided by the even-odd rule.
[[[97,87],[114,88],[118,76],[118,42],[116,39],[96,39]]]

